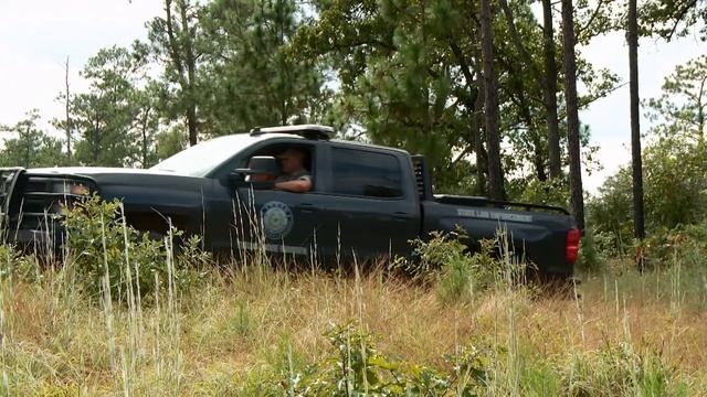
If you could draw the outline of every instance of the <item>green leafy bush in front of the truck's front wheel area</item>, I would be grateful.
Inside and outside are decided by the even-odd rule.
[[[172,280],[181,290],[199,280],[198,269],[209,255],[199,248],[198,237],[186,239],[175,257],[171,242],[182,237],[181,232],[172,228],[163,240],[154,239],[127,225],[123,215],[118,201],[107,203],[97,195],[65,212],[67,266],[87,293],[109,292],[113,299],[128,302],[138,296],[151,297]]]

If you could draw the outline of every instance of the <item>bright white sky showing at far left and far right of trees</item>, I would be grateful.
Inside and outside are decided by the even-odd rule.
[[[161,12],[161,0],[0,0],[0,124],[13,125],[36,108],[49,129],[49,120],[63,114],[55,98],[64,89],[66,57],[71,90],[82,92],[87,84],[78,71],[86,60],[102,47],[126,46],[145,39],[145,22]],[[706,49],[696,35],[671,43],[642,39],[641,97],[658,96],[664,77]],[[580,51],[597,67],[606,67],[629,81],[623,33],[595,37]],[[591,128],[591,143],[600,148],[603,170],[583,176],[584,189],[595,193],[606,176],[631,159],[629,86],[594,101],[580,118]],[[644,118],[641,130],[648,128]]]

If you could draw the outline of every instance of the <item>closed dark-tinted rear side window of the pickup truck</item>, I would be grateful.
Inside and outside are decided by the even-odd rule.
[[[333,148],[333,192],[337,194],[402,197],[400,161],[391,154]]]

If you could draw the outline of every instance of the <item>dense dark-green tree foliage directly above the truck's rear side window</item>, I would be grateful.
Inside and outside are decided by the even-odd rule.
[[[455,149],[473,147],[467,130],[475,88],[464,88],[449,39],[463,23],[454,1],[321,2],[314,24],[293,46],[304,57],[331,58],[341,108],[376,143],[425,154],[439,186],[466,174]],[[460,30],[461,31],[461,30]],[[329,37],[335,40],[330,40]],[[456,41],[456,37],[453,39]]]

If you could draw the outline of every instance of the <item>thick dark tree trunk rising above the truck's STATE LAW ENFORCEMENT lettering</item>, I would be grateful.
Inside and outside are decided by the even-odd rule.
[[[484,58],[484,116],[486,150],[488,151],[488,193],[503,200],[504,175],[500,167],[500,137],[498,133],[498,92],[494,74],[494,42],[490,26],[489,0],[481,0],[482,54]]]

